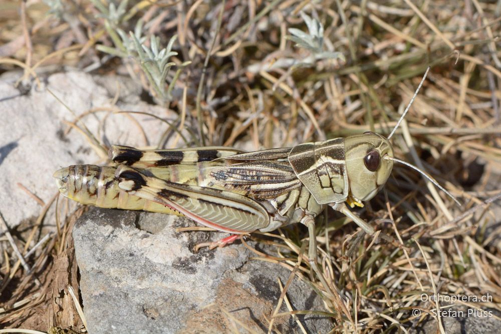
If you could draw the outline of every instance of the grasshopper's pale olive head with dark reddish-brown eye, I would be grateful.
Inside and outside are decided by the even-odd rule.
[[[388,139],[373,132],[345,138],[346,170],[350,193],[367,201],[384,186],[393,168],[393,147]]]

